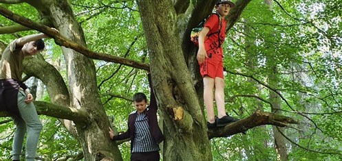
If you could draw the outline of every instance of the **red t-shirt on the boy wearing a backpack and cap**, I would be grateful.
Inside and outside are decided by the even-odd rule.
[[[206,20],[206,23],[204,24],[204,27],[208,27],[210,30],[208,34],[206,34],[206,40],[204,40],[204,47],[206,49],[206,53],[219,53],[220,55],[223,56],[223,51],[222,51],[222,44],[224,42],[224,39],[226,38],[226,20],[223,18],[222,19],[222,27],[220,31],[220,47],[219,47],[219,38],[217,32],[219,31],[220,28],[220,19],[217,14],[212,14],[209,16],[209,18]]]

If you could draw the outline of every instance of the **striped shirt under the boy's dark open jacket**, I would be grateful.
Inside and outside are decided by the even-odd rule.
[[[135,136],[132,153],[159,151],[159,145],[153,140],[149,132],[149,117],[145,112],[137,112],[135,127]]]

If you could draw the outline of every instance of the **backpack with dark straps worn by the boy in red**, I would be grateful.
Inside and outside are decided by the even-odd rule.
[[[220,15],[217,13],[212,13],[211,15],[217,15],[219,17],[220,20],[220,27],[219,30],[217,32],[213,32],[211,34],[206,35],[206,38],[209,38],[209,36],[211,36],[212,34],[217,34],[218,37],[218,42],[219,42],[219,46],[221,47],[221,39],[220,39],[220,31],[221,31],[221,27],[222,27],[222,21],[220,18]],[[211,16],[209,15],[208,17],[204,18],[202,22],[198,23],[198,25],[196,27],[193,27],[193,29],[191,30],[191,42],[193,42],[194,45],[196,45],[196,47],[198,47],[198,36],[200,36],[200,32],[202,32],[202,29],[204,27],[204,24],[206,23],[206,20]],[[205,39],[206,40],[206,39]]]

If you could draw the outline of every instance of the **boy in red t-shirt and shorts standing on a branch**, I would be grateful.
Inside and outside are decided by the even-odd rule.
[[[204,105],[208,115],[207,126],[209,129],[222,127],[228,123],[233,123],[238,119],[227,116],[224,108],[224,75],[223,75],[223,51],[222,44],[226,38],[226,20],[231,8],[234,7],[231,1],[219,0],[215,5],[217,14],[209,16],[204,24],[204,28],[198,37],[199,49],[197,60],[200,64],[200,72],[204,84]],[[215,88],[215,101],[217,106],[217,116],[215,119],[213,90]]]

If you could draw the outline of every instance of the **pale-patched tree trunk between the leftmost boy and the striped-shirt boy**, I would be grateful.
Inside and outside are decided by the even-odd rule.
[[[28,3],[49,17],[50,23],[63,36],[86,46],[83,31],[74,18],[68,1],[43,0]],[[67,65],[70,96],[70,102],[65,102],[63,106],[70,106],[89,114],[87,121],[82,123],[64,120],[65,127],[70,131],[76,131],[85,160],[101,160],[106,157],[122,160],[116,143],[109,140],[109,121],[98,95],[94,62],[72,49],[62,47],[62,50]],[[75,126],[70,126],[73,124]]]

